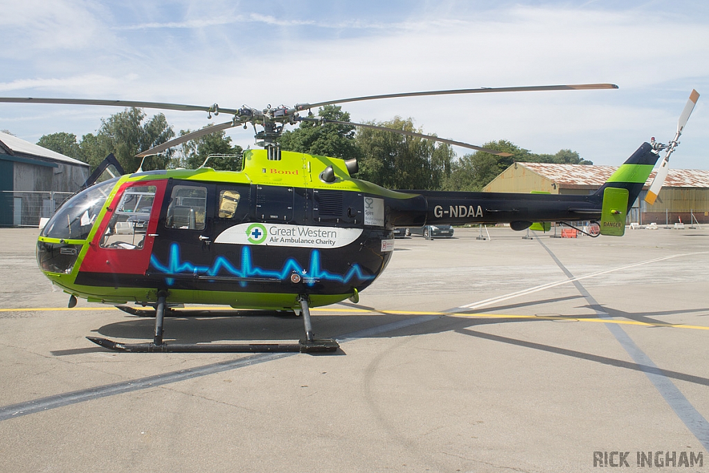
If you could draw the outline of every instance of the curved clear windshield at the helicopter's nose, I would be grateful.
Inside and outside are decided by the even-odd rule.
[[[84,189],[62,205],[41,235],[65,240],[86,240],[118,177]]]

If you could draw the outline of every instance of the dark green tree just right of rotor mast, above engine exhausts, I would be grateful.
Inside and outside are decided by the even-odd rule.
[[[342,107],[336,105],[321,107],[318,114],[330,120],[350,121],[350,113],[342,111]],[[279,145],[281,150],[340,157],[343,160],[358,158],[360,155],[354,142],[354,126],[337,123],[320,125],[302,121],[298,128],[281,135]]]

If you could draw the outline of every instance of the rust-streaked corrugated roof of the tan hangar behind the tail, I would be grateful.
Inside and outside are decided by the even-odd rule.
[[[618,166],[593,165],[557,165],[546,162],[518,162],[537,174],[556,182],[560,187],[601,187]],[[645,182],[649,186],[655,172]],[[709,170],[706,169],[669,169],[665,187],[703,187],[709,188]]]

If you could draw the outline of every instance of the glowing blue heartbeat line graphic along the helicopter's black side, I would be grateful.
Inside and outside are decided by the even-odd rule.
[[[218,256],[215,258],[211,266],[197,266],[189,261],[182,262],[182,257],[180,256],[180,249],[177,243],[172,243],[170,245],[169,255],[167,257],[167,265],[163,265],[155,255],[150,255],[150,264],[152,267],[158,271],[169,275],[169,274],[193,274],[194,276],[206,275],[206,276],[218,276],[219,272],[225,270],[229,274],[235,277],[250,278],[250,277],[268,277],[280,279],[288,279],[291,274],[298,273],[307,282],[308,286],[312,286],[318,279],[325,279],[326,281],[340,282],[342,284],[347,284],[353,277],[357,277],[360,281],[368,281],[369,279],[374,279],[374,276],[367,276],[362,274],[362,269],[359,265],[354,264],[347,271],[347,274],[333,274],[320,267],[320,252],[318,250],[311,251],[310,264],[308,265],[308,270],[303,269],[303,267],[294,259],[289,258],[283,265],[283,269],[280,271],[274,271],[272,269],[262,269],[255,267],[252,264],[251,250],[249,247],[245,246],[241,250],[241,267],[236,268],[231,262],[226,259],[226,257]],[[174,280],[172,278],[167,278],[168,284],[172,284]],[[241,281],[242,286],[246,286],[245,281]]]

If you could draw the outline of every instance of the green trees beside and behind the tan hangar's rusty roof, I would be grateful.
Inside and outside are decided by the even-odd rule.
[[[487,152],[474,152],[464,155],[453,162],[450,177],[443,183],[447,191],[480,191],[513,162],[550,162],[557,164],[592,165],[593,162],[582,160],[579,153],[571,150],[559,150],[555,155],[537,155],[530,150],[520,148],[506,140],[490,141],[484,148],[508,152],[512,156],[500,157]]]

